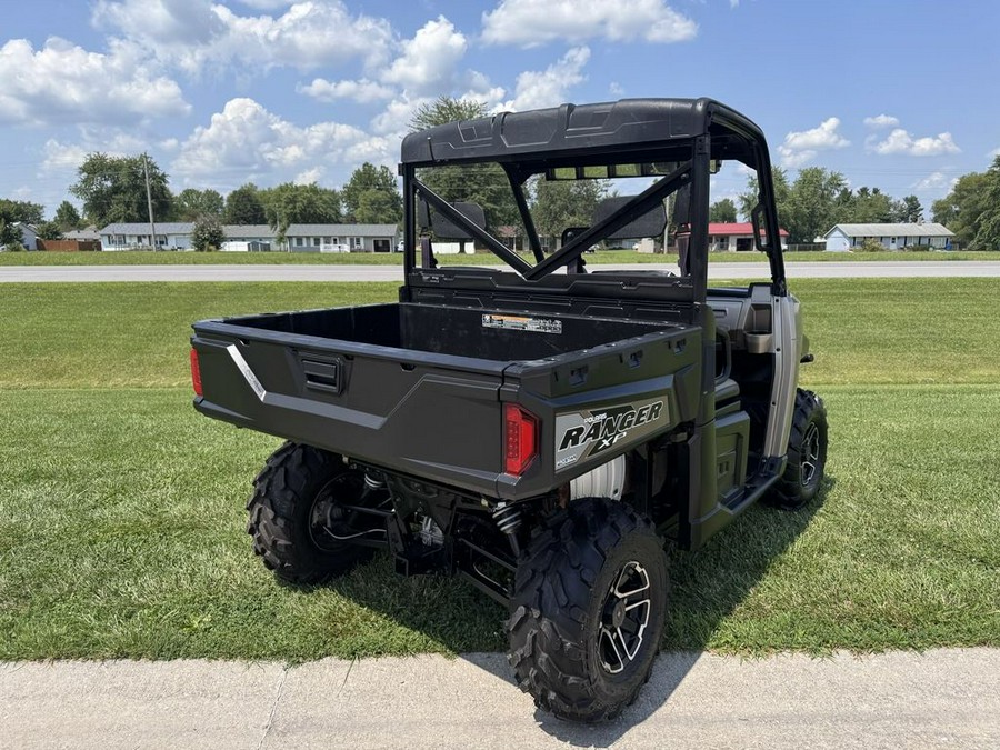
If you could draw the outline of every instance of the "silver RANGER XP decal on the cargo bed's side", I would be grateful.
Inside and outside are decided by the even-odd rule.
[[[663,401],[557,414],[556,469],[566,469],[609,450],[621,440],[636,440],[664,427],[667,408]]]

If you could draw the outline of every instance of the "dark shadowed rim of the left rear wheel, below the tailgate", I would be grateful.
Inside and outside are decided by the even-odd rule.
[[[377,507],[387,497],[384,489],[374,489],[358,471],[346,471],[323,486],[309,510],[309,538],[324,552],[337,552],[353,539],[373,533],[369,524],[359,523],[361,513],[344,506]]]

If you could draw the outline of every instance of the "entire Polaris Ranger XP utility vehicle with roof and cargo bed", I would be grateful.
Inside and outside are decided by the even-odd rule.
[[[771,279],[709,289],[709,179],[727,161],[757,171]],[[508,608],[539,706],[613,717],[660,647],[664,542],[697,549],[822,482],[827,417],[797,388],[812,356],[764,137],[709,99],[563,104],[412,133],[400,173],[399,302],[196,323],[194,407],[288,439],[248,507],[277,576],[318,583],[377,552],[457,573]],[[531,190],[593,179],[638,188],[547,246]],[[477,198],[509,201],[516,229]],[[674,254],[587,268],[624,238]],[[434,246],[454,242],[509,268],[451,267]]]

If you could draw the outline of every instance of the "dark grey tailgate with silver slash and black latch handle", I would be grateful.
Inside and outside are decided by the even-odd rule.
[[[202,397],[233,424],[493,494],[507,362],[194,324]]]

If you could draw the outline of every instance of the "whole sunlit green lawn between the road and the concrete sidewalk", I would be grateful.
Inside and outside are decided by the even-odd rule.
[[[471,587],[383,558],[281,586],[243,503],[280,441],[190,404],[198,318],[396,284],[9,284],[0,297],[0,659],[307,660],[504,648]],[[831,444],[821,502],[674,552],[664,647],[1000,646],[996,283],[799,280]]]

